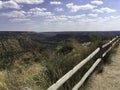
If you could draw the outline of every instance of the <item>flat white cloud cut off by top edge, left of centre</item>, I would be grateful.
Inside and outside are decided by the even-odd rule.
[[[24,3],[24,4],[41,4],[44,0],[12,0],[17,3]]]

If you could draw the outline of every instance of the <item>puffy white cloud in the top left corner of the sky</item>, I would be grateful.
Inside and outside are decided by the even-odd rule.
[[[0,8],[20,9],[20,6],[14,1],[0,1]]]

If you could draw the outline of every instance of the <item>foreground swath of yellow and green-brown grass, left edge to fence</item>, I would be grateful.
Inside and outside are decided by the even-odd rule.
[[[37,59],[39,60],[37,61],[44,59],[42,62],[35,62],[35,57],[37,56],[31,52],[23,55],[19,54],[19,59],[14,58],[16,60],[14,60],[10,68],[0,70],[0,90],[20,90],[23,87],[29,87],[32,90],[46,90],[95,50],[97,44],[98,42],[83,45],[73,40],[67,43],[66,46],[59,45],[55,48],[55,51],[47,52],[47,55],[44,55],[44,57],[41,54],[38,55]],[[61,48],[63,50],[59,53]],[[70,90],[89,67],[90,65],[87,63],[78,71],[79,77],[75,74],[60,90]]]

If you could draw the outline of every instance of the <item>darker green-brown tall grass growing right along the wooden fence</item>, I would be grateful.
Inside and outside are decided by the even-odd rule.
[[[46,71],[44,72],[44,89],[46,90],[50,85],[55,83],[60,77],[77,65],[81,60],[87,57],[95,48],[97,43],[89,44],[87,46],[79,44],[77,42],[69,43],[73,47],[73,50],[67,54],[53,54],[49,60],[45,61]],[[92,63],[91,63],[92,64]],[[71,90],[73,85],[80,80],[86,70],[91,64],[86,64],[77,74],[75,74],[70,80],[60,88],[60,90]],[[79,74],[79,76],[78,76]]]

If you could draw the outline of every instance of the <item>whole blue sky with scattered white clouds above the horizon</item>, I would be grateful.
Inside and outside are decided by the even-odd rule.
[[[120,0],[0,0],[0,31],[120,31]]]

